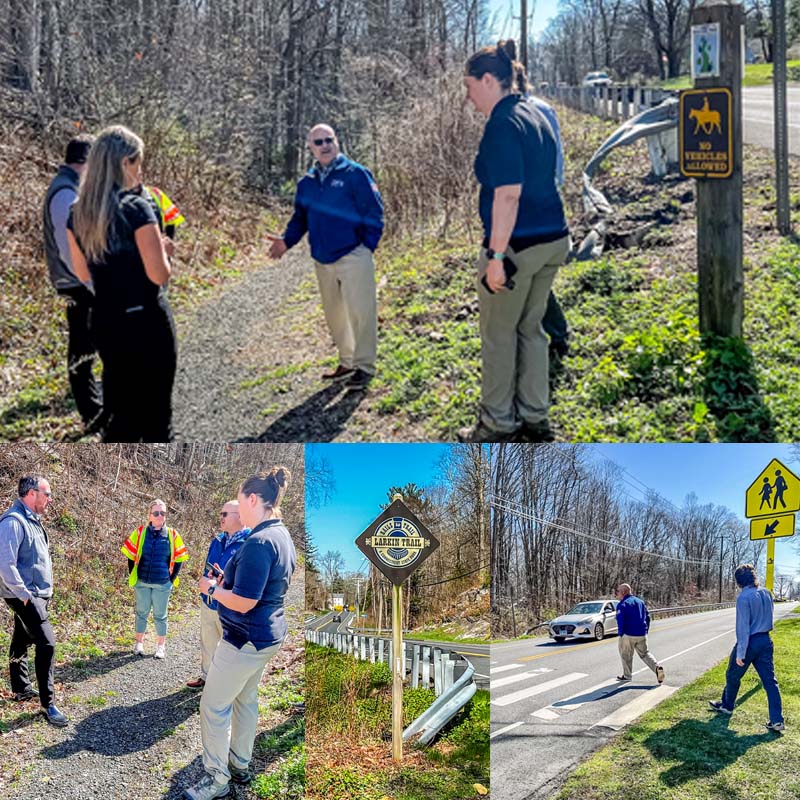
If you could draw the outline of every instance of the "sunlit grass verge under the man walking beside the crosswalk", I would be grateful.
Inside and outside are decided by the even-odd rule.
[[[587,759],[557,800],[795,800],[800,796],[800,619],[776,623],[785,734],[764,728],[766,696],[749,669],[732,717],[714,714],[727,659]]]

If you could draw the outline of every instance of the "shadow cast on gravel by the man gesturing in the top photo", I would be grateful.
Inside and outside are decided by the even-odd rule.
[[[278,417],[257,437],[239,442],[330,442],[366,396],[364,391],[348,391],[341,383],[326,386],[299,406]]]

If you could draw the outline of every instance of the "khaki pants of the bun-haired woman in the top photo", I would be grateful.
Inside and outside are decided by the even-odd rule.
[[[480,282],[488,265],[486,251],[481,252],[481,420],[492,430],[512,433],[523,422],[547,419],[549,362],[542,317],[556,270],[569,248],[569,236],[520,253],[507,248],[517,266],[515,287],[495,294],[489,294]]]

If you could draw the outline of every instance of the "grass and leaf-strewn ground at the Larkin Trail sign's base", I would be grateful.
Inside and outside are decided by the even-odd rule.
[[[391,758],[391,673],[306,643],[308,800],[467,800],[489,788],[489,693],[479,691],[429,748]],[[434,700],[405,689],[403,725]]]

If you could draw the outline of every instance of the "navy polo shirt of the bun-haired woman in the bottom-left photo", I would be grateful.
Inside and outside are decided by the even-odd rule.
[[[281,520],[265,520],[253,528],[225,567],[225,588],[257,602],[244,614],[219,604],[226,642],[239,650],[252,642],[256,650],[263,650],[283,641],[288,627],[283,598],[296,563],[294,544]]]

